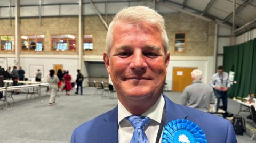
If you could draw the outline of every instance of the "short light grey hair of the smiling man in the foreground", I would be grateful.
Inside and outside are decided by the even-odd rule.
[[[161,35],[163,39],[164,52],[168,51],[168,37],[165,30],[165,21],[163,16],[158,14],[155,10],[150,9],[146,6],[132,6],[126,7],[125,9],[119,11],[113,21],[109,24],[107,37],[106,37],[106,51],[109,55],[110,48],[113,44],[113,28],[118,22],[136,22],[144,23],[148,22],[149,24],[156,24],[157,27],[161,30]]]

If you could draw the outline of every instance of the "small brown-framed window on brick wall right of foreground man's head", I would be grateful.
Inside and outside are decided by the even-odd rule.
[[[175,52],[185,51],[185,33],[175,33],[174,51]]]

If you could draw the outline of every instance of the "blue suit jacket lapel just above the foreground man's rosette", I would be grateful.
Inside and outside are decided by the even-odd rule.
[[[165,100],[165,125],[172,120],[185,119],[187,117],[186,113],[177,104],[171,102],[166,95],[163,94],[163,96]]]

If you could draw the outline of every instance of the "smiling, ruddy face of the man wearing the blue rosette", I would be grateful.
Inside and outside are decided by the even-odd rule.
[[[118,99],[157,98],[165,82],[169,52],[164,53],[161,32],[147,23],[119,23],[104,61]]]

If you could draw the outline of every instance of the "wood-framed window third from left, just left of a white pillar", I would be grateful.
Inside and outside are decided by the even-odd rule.
[[[76,35],[52,35],[53,51],[76,51]]]

